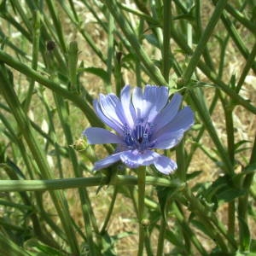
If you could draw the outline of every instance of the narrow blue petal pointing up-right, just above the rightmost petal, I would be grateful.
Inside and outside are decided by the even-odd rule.
[[[174,96],[172,96],[172,100],[166,105],[166,108],[162,109],[162,111],[155,117],[153,123],[157,125],[156,131],[170,123],[176,116],[182,102],[182,98],[183,97],[180,94],[176,93]]]

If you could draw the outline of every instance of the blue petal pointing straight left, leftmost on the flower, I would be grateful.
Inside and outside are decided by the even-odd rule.
[[[83,132],[83,135],[87,137],[90,144],[123,143],[121,137],[103,128],[87,128]]]

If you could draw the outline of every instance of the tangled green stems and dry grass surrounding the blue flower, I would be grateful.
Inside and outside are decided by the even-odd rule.
[[[247,0],[2,0],[0,253],[254,255],[255,15]],[[144,171],[91,172],[113,145],[80,137],[103,127],[93,98],[127,83],[166,85],[196,117],[145,197]]]

